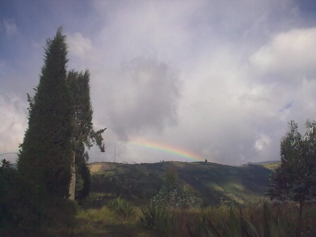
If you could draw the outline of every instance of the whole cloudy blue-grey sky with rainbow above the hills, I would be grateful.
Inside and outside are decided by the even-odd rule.
[[[90,162],[278,160],[316,119],[316,2],[0,1],[0,154],[18,152],[44,46],[90,70]],[[1,156],[15,162],[16,154]]]

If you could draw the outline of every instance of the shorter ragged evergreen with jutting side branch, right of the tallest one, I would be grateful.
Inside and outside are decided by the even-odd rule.
[[[94,131],[92,123],[92,105],[90,99],[90,73],[70,70],[67,82],[72,92],[72,103],[74,105],[74,131],[73,150],[75,151],[76,163],[76,199],[85,199],[90,188],[90,172],[87,167],[89,159],[85,147],[90,149],[97,144],[101,152],[105,151],[102,133],[106,130]]]

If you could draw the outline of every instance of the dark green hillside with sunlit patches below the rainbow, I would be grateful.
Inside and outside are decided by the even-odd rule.
[[[174,169],[179,188],[191,185],[204,205],[218,204],[219,197],[237,203],[264,198],[270,171],[262,166],[234,167],[217,163],[167,161],[120,164],[99,162],[88,165],[91,191],[134,199],[150,199],[162,186],[164,173]]]

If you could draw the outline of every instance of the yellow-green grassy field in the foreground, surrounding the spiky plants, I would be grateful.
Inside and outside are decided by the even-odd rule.
[[[143,207],[145,208],[145,207]],[[276,206],[272,206],[269,204],[270,209],[270,225],[274,226],[274,222],[282,221],[288,223],[286,226],[274,226],[278,228],[279,231],[283,231],[288,233],[285,236],[294,236],[295,232],[295,224],[297,220],[298,210],[294,205],[285,205],[276,208]],[[277,214],[277,210],[279,210],[279,214]],[[263,202],[256,204],[247,204],[241,206],[241,208],[233,208],[234,218],[236,220],[242,221],[239,219],[240,216],[243,216],[248,221],[251,221],[254,227],[258,230],[258,232],[263,233],[264,228],[262,223],[265,223],[264,214],[263,214]],[[197,208],[194,210],[169,210],[169,219],[173,218],[172,228],[168,231],[170,233],[164,232],[161,229],[155,228],[146,228],[142,225],[140,221],[140,216],[143,216],[141,207],[133,205],[133,214],[127,218],[120,216],[114,210],[112,210],[107,205],[102,206],[98,209],[82,209],[78,212],[76,216],[76,223],[71,231],[68,233],[70,236],[78,236],[78,237],[157,237],[157,236],[194,236],[190,235],[190,231],[195,233],[195,236],[200,235],[203,232],[204,226],[208,226],[208,221],[212,223],[212,225],[218,229],[219,233],[224,235],[224,229],[221,228],[223,224],[227,225],[228,228],[232,228],[232,219],[231,219],[231,210],[229,206],[222,205],[216,207],[207,207],[207,208]],[[302,232],[302,236],[304,237],[313,237],[315,236],[315,226],[316,226],[316,218],[315,218],[316,208],[315,206],[309,206],[304,211],[304,228]],[[281,214],[281,215],[280,215]],[[279,216],[277,216],[279,215]],[[281,219],[280,219],[281,218]],[[219,221],[221,220],[221,221]],[[260,224],[261,223],[261,224]],[[190,231],[189,229],[190,228]],[[68,230],[69,231],[69,230]],[[204,229],[205,231],[205,229]],[[273,230],[275,231],[275,230]],[[169,233],[169,234],[168,234]],[[197,235],[196,235],[197,234]],[[67,236],[64,232],[60,236]],[[205,235],[209,236],[209,235]],[[239,235],[236,235],[239,236]],[[260,235],[262,236],[262,235]],[[271,234],[271,237],[281,236],[278,234]],[[282,235],[283,236],[283,235]]]

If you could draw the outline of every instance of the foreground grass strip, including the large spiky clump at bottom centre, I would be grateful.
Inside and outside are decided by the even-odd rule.
[[[240,230],[241,225],[247,229],[250,236],[256,236],[252,227],[258,232],[258,237],[265,236],[264,228],[270,228],[270,237],[294,236],[297,224],[298,207],[289,204],[277,207],[267,204],[270,217],[264,217],[263,202],[245,204],[240,208],[222,205],[197,208],[194,210],[167,210],[163,208],[139,207],[133,205],[133,216],[121,216],[112,208],[103,206],[99,209],[81,209],[76,216],[76,227],[72,234],[78,237],[101,236],[220,236],[228,237],[227,231]],[[159,209],[159,210],[158,210]],[[232,217],[232,210],[234,217]],[[240,217],[242,216],[242,217]],[[271,222],[268,227],[264,223]],[[175,223],[176,225],[174,225]],[[211,225],[209,224],[211,223]],[[280,226],[280,223],[283,226]],[[303,215],[302,237],[316,236],[316,205],[307,205]],[[218,235],[203,235],[214,227]],[[236,230],[234,230],[236,229]],[[279,231],[280,230],[280,231]],[[226,233],[226,232],[227,233]],[[280,235],[279,233],[285,233]],[[190,233],[191,232],[191,233]],[[226,233],[226,235],[225,235]],[[251,234],[252,233],[252,234]],[[62,234],[60,236],[68,236]],[[70,236],[70,235],[69,235]],[[236,235],[242,236],[242,235]],[[246,235],[243,235],[246,236]]]

